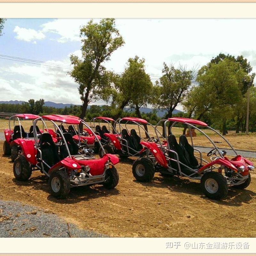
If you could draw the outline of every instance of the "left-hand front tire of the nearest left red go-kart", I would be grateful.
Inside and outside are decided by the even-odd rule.
[[[70,191],[70,181],[65,170],[50,173],[49,188],[52,196],[60,199],[66,198]]]

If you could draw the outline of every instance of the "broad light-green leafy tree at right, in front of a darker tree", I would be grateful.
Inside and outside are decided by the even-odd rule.
[[[227,119],[233,114],[236,103],[242,100],[243,83],[249,79],[239,63],[228,58],[203,66],[196,78],[198,86],[189,92],[184,103],[185,109],[196,119],[210,114],[225,135]]]

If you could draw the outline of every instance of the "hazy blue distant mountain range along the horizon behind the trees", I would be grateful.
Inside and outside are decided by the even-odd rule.
[[[8,103],[8,104],[22,104],[22,102],[24,102],[23,100],[9,100],[9,101],[0,101],[0,104],[2,103]],[[64,104],[64,103],[55,103],[55,102],[52,102],[52,101],[45,101],[44,102],[44,106],[46,107],[54,107],[54,108],[65,108],[65,107],[70,107],[71,105],[75,106],[76,104]],[[100,106],[103,106],[103,105],[100,105]],[[88,109],[90,108],[90,106],[88,106]],[[131,108],[124,108],[125,111],[128,111],[128,112],[131,112],[132,109]],[[152,112],[152,108],[140,108],[140,112],[144,112],[144,113],[150,113]],[[177,114],[181,112],[180,110],[177,110],[177,109],[174,109],[174,111],[172,112],[172,114]],[[159,109],[157,112],[156,112],[157,116],[159,117],[162,117],[165,115],[165,111],[164,110],[161,110]]]

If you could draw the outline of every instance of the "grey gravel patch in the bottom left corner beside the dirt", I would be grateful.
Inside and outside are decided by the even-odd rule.
[[[0,200],[0,237],[107,237],[78,228],[49,210]]]

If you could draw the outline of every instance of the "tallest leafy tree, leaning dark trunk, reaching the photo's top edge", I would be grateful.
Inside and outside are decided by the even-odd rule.
[[[97,100],[102,90],[111,83],[111,72],[102,65],[111,54],[124,44],[115,25],[115,19],[92,20],[80,29],[82,59],[70,56],[74,68],[69,75],[79,84],[82,106],[80,118],[84,118],[88,104]]]

